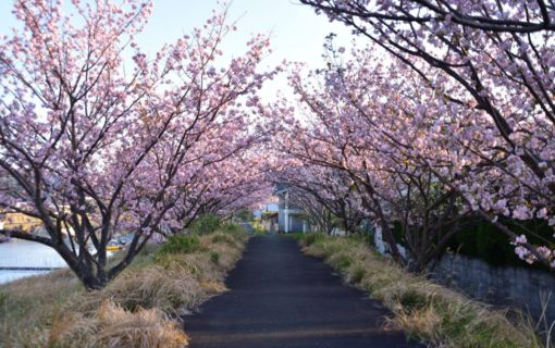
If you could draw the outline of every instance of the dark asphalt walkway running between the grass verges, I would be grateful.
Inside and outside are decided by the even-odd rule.
[[[421,347],[383,331],[388,312],[286,237],[251,238],[227,291],[184,318],[190,348]]]

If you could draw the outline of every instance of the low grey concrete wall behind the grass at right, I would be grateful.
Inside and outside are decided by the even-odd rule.
[[[432,278],[488,303],[522,308],[535,319],[542,312],[542,298],[546,301],[552,294],[546,313],[550,323],[555,320],[555,275],[548,272],[496,268],[480,259],[446,253]]]

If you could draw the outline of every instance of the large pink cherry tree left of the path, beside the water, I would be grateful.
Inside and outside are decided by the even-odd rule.
[[[70,14],[57,1],[15,1],[23,27],[0,44],[0,166],[21,188],[2,191],[0,206],[44,229],[0,233],[55,249],[89,289],[181,224],[172,212],[200,167],[256,141],[234,132],[259,112],[257,90],[274,74],[258,72],[263,36],[218,63],[234,29],[225,11],[147,57],[134,37],[150,11],[140,0],[72,1]],[[106,246],[122,233],[133,240],[109,265]]]

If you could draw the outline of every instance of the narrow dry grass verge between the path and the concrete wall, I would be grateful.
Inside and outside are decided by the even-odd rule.
[[[403,330],[410,339],[432,347],[545,347],[525,315],[509,320],[506,311],[407,273],[361,238],[296,237],[306,253],[323,258],[348,283],[383,301],[394,314],[386,327]]]

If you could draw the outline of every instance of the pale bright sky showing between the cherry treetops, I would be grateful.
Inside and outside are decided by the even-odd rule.
[[[11,13],[12,3],[10,0],[0,0],[0,34],[9,35],[16,25]],[[212,10],[222,8],[218,0],[155,0],[153,3],[149,23],[137,37],[139,47],[149,53],[156,52],[163,44],[189,34],[210,17]],[[353,39],[350,30],[344,25],[330,23],[325,16],[317,15],[298,0],[233,0],[229,18],[238,22],[237,32],[223,42],[227,57],[242,54],[251,34],[271,35],[273,52],[266,58],[262,66],[273,66],[286,59],[320,67],[323,64],[321,54],[325,36],[335,33],[337,47],[349,46]],[[267,85],[262,97],[272,98],[279,89],[287,89],[285,76]]]

